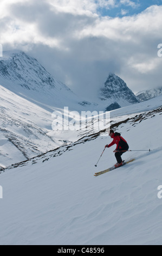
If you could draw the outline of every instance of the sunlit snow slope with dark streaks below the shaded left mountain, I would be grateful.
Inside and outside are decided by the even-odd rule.
[[[20,162],[62,145],[47,133],[51,113],[0,86],[0,163]]]

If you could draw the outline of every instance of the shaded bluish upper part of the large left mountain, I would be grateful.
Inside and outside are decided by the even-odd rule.
[[[0,59],[0,84],[48,111],[55,106],[68,106],[69,101],[76,107],[80,101],[79,97],[51,76],[35,58],[22,51],[4,52]]]

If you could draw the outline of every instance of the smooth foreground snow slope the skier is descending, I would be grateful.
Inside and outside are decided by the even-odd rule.
[[[123,159],[135,161],[124,167],[93,176],[115,162],[114,146],[94,167],[111,142],[101,133],[2,171],[0,244],[161,245],[162,112],[157,99],[151,101],[154,110],[138,107],[135,114],[131,106],[111,114],[129,149],[151,149],[125,153]]]

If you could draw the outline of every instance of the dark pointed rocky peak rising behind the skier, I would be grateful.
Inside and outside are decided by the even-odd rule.
[[[100,89],[100,99],[107,104],[106,111],[139,102],[132,90],[115,74],[109,74],[104,86]]]

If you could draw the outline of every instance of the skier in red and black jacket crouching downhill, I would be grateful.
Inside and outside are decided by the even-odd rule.
[[[121,155],[128,150],[129,146],[125,139],[120,136],[119,132],[114,132],[113,130],[110,130],[109,136],[113,139],[113,141],[112,143],[106,145],[105,148],[109,148],[112,145],[116,144],[116,149],[113,151],[117,160],[117,163],[114,164],[114,167],[116,168],[122,166]],[[122,150],[125,150],[125,152],[123,152]]]

